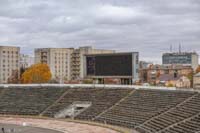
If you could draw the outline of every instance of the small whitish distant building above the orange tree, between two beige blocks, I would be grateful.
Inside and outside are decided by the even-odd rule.
[[[34,57],[20,54],[20,68],[26,69],[34,64]]]

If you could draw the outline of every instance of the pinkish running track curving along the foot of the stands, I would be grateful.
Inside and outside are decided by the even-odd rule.
[[[21,132],[14,132],[14,133],[27,133],[27,132],[28,133],[60,133],[60,132],[63,132],[63,133],[119,133],[117,131],[114,131],[108,128],[99,127],[99,126],[80,124],[80,123],[74,123],[74,122],[65,122],[65,121],[52,120],[52,119],[46,120],[46,119],[32,119],[32,118],[0,117],[0,123],[2,123],[0,124],[0,128],[2,128],[1,126],[14,128],[15,127],[14,125],[18,125],[16,126],[16,129],[17,129],[16,131],[21,131]],[[52,129],[53,131],[47,130],[47,129]],[[2,132],[1,130],[2,129],[0,129],[0,133]],[[12,132],[8,132],[8,133],[12,133]]]

